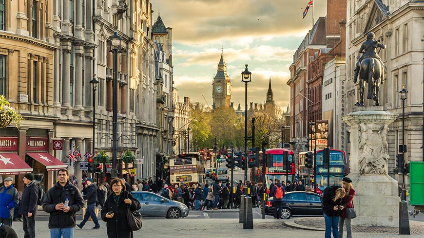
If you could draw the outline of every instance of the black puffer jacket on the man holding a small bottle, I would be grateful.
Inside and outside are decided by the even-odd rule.
[[[65,203],[66,198],[69,200],[69,212],[56,210],[56,204]],[[75,227],[77,220],[75,213],[81,210],[83,206],[84,201],[76,186],[69,183],[69,181],[63,187],[59,182],[55,183],[47,191],[46,197],[43,200],[43,210],[50,213],[49,228]]]

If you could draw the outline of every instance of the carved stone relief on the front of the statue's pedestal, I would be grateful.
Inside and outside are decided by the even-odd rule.
[[[359,125],[359,171],[361,174],[387,174],[387,125]]]

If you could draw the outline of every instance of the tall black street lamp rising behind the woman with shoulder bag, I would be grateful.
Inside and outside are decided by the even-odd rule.
[[[109,37],[112,43],[111,51],[114,55],[114,82],[113,82],[113,121],[112,121],[112,178],[117,177],[117,150],[118,150],[118,139],[117,139],[117,124],[118,124],[118,53],[121,49],[121,39],[117,32]]]

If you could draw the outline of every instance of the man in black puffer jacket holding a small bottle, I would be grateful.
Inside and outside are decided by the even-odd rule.
[[[50,213],[51,237],[73,238],[77,219],[75,213],[84,206],[81,193],[68,179],[68,170],[59,169],[59,182],[47,191],[43,201],[43,210]]]

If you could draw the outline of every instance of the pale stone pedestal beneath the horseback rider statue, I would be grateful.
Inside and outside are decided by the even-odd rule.
[[[352,225],[398,226],[398,183],[387,174],[387,130],[397,115],[358,107],[342,119],[350,126],[350,173],[357,217]]]

